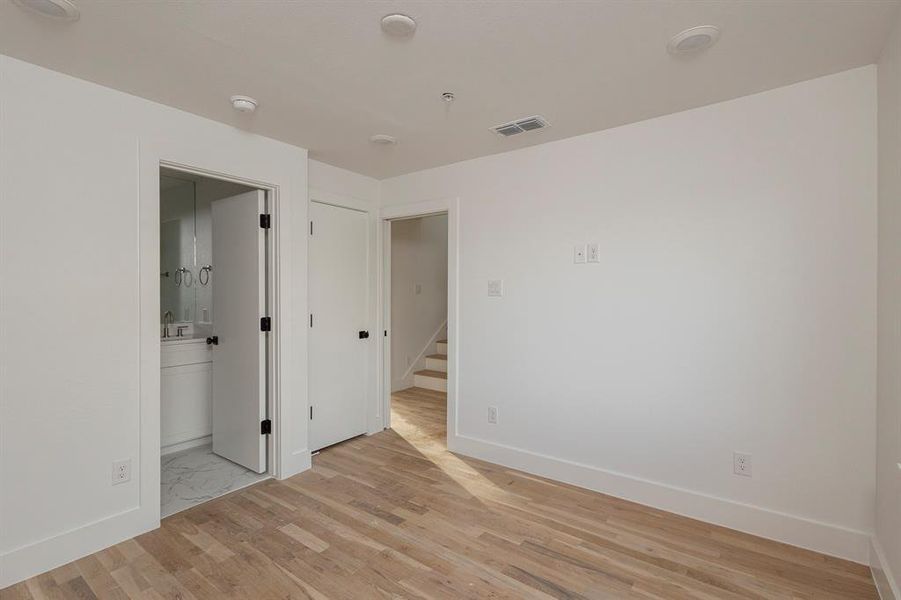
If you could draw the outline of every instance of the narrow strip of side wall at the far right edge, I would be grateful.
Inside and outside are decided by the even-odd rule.
[[[879,376],[874,574],[901,600],[901,20],[879,61]],[[879,556],[881,555],[881,556]],[[891,581],[891,583],[889,583]]]

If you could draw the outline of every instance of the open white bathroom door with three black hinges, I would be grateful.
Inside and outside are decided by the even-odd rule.
[[[213,452],[266,470],[265,194],[254,190],[212,203]]]

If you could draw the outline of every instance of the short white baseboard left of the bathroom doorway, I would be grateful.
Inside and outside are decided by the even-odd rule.
[[[0,556],[0,589],[159,527],[135,506]],[[158,515],[159,513],[157,513]]]

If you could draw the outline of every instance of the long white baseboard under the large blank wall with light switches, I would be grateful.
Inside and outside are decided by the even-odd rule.
[[[867,532],[467,436],[448,439],[448,446],[452,452],[465,456],[830,556],[868,563],[870,534]]]

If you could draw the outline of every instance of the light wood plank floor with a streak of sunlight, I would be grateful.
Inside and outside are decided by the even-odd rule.
[[[877,598],[857,564],[447,452],[445,396],[393,431],[0,591],[13,598]]]

